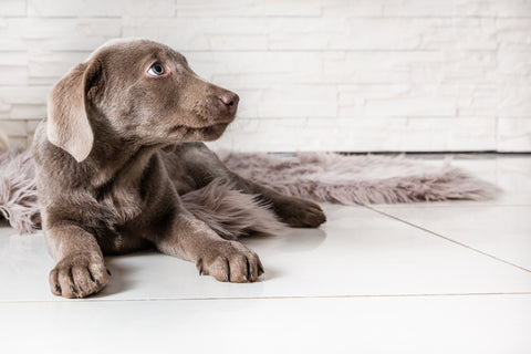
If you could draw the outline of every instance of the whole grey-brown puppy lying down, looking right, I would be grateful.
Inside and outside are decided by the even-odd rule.
[[[179,199],[214,179],[259,195],[291,227],[325,221],[317,205],[243,179],[199,143],[223,133],[238,101],[148,40],[110,42],[59,81],[32,146],[44,237],[58,261],[53,294],[96,293],[110,281],[104,254],[149,248],[219,281],[257,281],[258,256]]]

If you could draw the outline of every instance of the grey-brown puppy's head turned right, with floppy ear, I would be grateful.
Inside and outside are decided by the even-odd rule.
[[[113,41],[53,87],[46,134],[77,162],[88,156],[98,124],[139,145],[214,140],[233,121],[238,100],[198,77],[164,44]]]

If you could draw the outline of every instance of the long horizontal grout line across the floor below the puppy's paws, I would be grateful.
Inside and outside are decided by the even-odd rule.
[[[531,295],[531,292],[464,292],[441,294],[358,294],[358,295],[278,295],[278,296],[219,296],[219,298],[158,298],[158,299],[71,299],[71,300],[1,300],[8,303],[90,303],[90,302],[166,302],[166,301],[216,301],[216,300],[304,300],[304,299],[381,299],[381,298],[442,298],[442,296],[497,296],[497,295]]]

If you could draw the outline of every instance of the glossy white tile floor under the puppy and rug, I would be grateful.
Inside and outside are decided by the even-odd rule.
[[[0,228],[0,353],[531,353],[531,157],[454,164],[504,194],[325,206],[319,230],[244,240],[253,284],[142,253],[108,258],[102,294],[54,298],[42,235]]]

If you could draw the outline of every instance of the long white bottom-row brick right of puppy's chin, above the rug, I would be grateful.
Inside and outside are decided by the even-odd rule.
[[[262,152],[496,148],[494,118],[271,118],[251,122],[228,131],[210,146]],[[326,129],[326,134],[323,134],[323,129]],[[358,142],[358,147],[352,147],[353,140]]]

